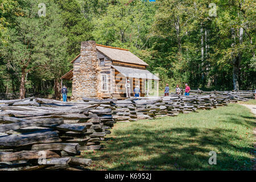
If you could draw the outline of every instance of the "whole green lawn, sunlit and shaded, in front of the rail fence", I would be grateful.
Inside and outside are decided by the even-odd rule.
[[[238,104],[116,123],[100,151],[82,152],[92,170],[251,170],[254,115]],[[209,151],[217,152],[210,165]]]

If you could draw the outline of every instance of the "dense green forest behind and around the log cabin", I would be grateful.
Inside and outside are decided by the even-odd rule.
[[[253,90],[253,0],[0,0],[0,93],[60,97],[82,41],[129,49],[160,88]],[[71,86],[70,83],[68,86]]]

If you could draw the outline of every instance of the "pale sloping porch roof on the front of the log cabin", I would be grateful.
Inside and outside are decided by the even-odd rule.
[[[146,69],[136,69],[127,67],[113,66],[119,73],[128,78],[142,78],[147,80],[160,80],[157,76],[153,75]]]

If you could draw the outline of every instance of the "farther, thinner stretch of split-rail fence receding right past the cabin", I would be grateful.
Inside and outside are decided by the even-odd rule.
[[[192,90],[193,93],[194,90]],[[175,116],[179,113],[190,113],[197,109],[213,109],[225,106],[230,102],[254,99],[254,92],[216,92],[191,96],[170,94],[168,97],[141,97],[114,101],[112,115],[117,122],[130,122],[137,119],[152,119],[162,116]]]

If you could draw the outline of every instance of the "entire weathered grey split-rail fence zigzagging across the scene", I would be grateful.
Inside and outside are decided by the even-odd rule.
[[[83,98],[79,102],[34,97],[0,100],[0,170],[84,169],[81,166],[89,166],[92,160],[74,156],[82,150],[100,149],[115,122],[175,116],[251,98],[253,92],[127,100]],[[44,151],[47,163],[38,163],[39,151]]]

